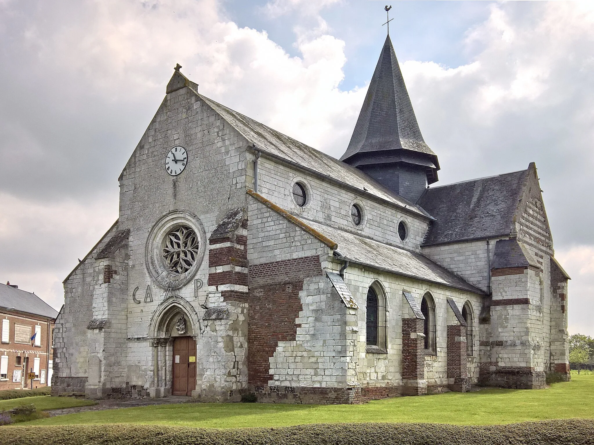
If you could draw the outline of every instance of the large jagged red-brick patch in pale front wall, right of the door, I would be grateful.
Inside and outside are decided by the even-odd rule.
[[[251,386],[268,385],[269,359],[278,342],[295,341],[297,328],[301,326],[295,319],[303,310],[299,292],[304,279],[322,273],[319,256],[250,266],[248,382]]]

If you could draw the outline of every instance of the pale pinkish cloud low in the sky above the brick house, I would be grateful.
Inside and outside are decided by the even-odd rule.
[[[36,202],[0,193],[0,281],[34,291],[56,310],[62,280],[118,217],[118,196]]]

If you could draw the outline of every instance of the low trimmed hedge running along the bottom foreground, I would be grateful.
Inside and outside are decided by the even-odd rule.
[[[567,419],[508,425],[315,424],[280,428],[165,425],[4,426],[0,443],[15,445],[586,445],[594,420]]]

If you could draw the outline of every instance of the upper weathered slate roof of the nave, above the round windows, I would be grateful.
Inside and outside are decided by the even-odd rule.
[[[233,111],[208,97],[198,93],[196,94],[225,119],[229,125],[244,136],[244,138],[254,144],[258,150],[273,155],[273,157],[281,158],[289,163],[323,174],[326,177],[343,183],[345,186],[355,187],[361,190],[362,193],[370,193],[384,201],[409,209],[418,215],[431,218],[431,215],[426,214],[417,205],[387,189],[361,170],[355,169],[355,167],[351,167],[330,155],[283,135],[263,123]]]

